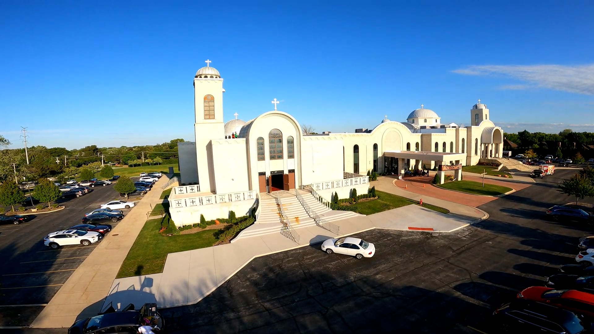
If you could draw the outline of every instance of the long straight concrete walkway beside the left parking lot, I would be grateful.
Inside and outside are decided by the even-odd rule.
[[[168,175],[164,175],[154,184],[153,190],[99,242],[30,327],[70,327],[76,320],[96,316],[101,311],[119,267],[147,220],[150,205],[154,207],[162,201],[159,199],[161,186],[167,181]],[[117,196],[115,192],[114,196]]]

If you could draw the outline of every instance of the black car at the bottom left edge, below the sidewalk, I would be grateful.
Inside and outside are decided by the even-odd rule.
[[[134,311],[134,304],[129,304],[121,311],[116,312],[109,306],[108,311],[99,316],[78,320],[68,329],[68,334],[138,333],[138,327],[144,325],[145,320],[155,333],[165,326],[163,317],[157,311],[157,304],[144,304],[138,311]]]

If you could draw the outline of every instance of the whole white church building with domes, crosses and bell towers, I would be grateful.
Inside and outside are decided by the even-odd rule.
[[[238,114],[225,122],[223,78],[209,66],[194,76],[195,141],[178,143],[180,186],[169,197],[176,225],[204,218],[245,215],[261,193],[305,188],[331,200],[365,194],[368,171],[403,174],[440,166],[460,178],[464,165],[503,155],[503,131],[486,105],[470,109],[470,126],[444,124],[429,109],[410,112],[406,122],[387,115],[372,130],[354,133],[302,133],[298,120],[277,110],[247,122]],[[228,116],[229,118],[229,116]]]

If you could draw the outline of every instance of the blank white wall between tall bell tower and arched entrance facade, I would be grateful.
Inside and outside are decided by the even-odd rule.
[[[213,149],[214,186],[217,194],[249,190],[245,139],[211,141]]]

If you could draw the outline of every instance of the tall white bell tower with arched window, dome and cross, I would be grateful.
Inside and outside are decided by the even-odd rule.
[[[210,67],[210,60],[194,76],[194,133],[200,191],[213,191],[214,169],[210,141],[225,136],[223,123],[223,79],[219,71]]]

